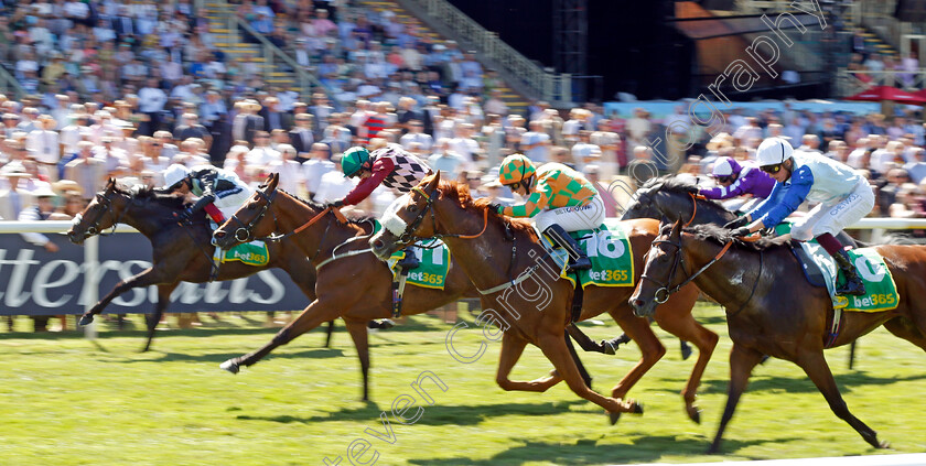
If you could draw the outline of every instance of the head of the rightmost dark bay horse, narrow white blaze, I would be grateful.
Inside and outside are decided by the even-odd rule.
[[[629,300],[634,314],[640,317],[652,316],[656,312],[656,305],[669,299],[672,282],[680,283],[685,280],[685,277],[676,278],[683,262],[681,220],[660,226],[659,236],[653,239],[653,246],[645,258],[643,274]]]

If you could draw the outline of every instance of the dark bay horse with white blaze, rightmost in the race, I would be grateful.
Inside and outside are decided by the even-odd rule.
[[[631,296],[638,315],[650,315],[654,305],[681,284],[693,282],[726,311],[733,339],[730,353],[730,386],[726,407],[710,453],[721,437],[750,373],[763,355],[785,359],[804,369],[837,416],[849,423],[876,448],[887,447],[877,434],[849,412],[823,357],[832,337],[832,302],[825,288],[805,280],[801,267],[789,251],[789,235],[744,242],[729,231],[702,225],[682,231],[681,221],[665,224]],[[842,323],[829,347],[846,345],[880,325],[926,350],[926,303],[918,293],[926,289],[926,248],[880,245],[900,293],[900,306],[876,313],[842,313]],[[658,311],[657,311],[658,314]]]

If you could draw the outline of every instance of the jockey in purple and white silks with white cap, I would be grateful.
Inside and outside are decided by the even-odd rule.
[[[758,170],[754,162],[743,162],[740,165],[729,156],[717,159],[711,177],[719,186],[698,191],[698,194],[709,199],[729,199],[745,194],[752,194],[754,199],[764,199],[775,187],[775,180]],[[740,209],[746,210],[750,202],[743,204]]]

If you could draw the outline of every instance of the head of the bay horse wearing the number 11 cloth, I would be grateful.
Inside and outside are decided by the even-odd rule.
[[[277,223],[267,217],[267,213],[277,196],[277,184],[279,182],[279,173],[271,173],[267,177],[267,184],[262,188],[256,189],[254,195],[238,208],[235,215],[225,220],[213,232],[213,245],[222,249],[229,249],[255,238],[270,236],[277,228]]]

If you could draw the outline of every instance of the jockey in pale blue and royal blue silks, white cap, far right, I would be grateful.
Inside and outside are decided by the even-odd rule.
[[[804,201],[820,203],[794,223],[792,237],[798,241],[816,238],[836,259],[847,279],[837,294],[865,294],[858,271],[836,235],[874,207],[874,192],[868,180],[849,165],[819,153],[795,152],[782,138],[766,139],[756,153],[762,171],[777,182],[775,188],[762,204],[724,227],[735,228],[733,236],[745,236],[778,225]]]

